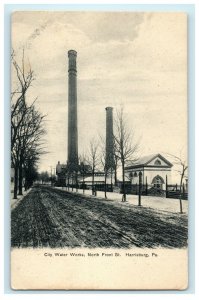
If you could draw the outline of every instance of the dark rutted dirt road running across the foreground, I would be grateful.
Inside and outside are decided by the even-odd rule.
[[[187,245],[187,216],[35,187],[11,214],[12,247]]]

